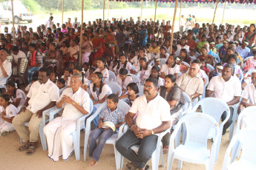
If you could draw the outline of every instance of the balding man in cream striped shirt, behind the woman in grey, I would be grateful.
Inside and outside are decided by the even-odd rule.
[[[198,77],[200,66],[197,63],[191,64],[188,73],[180,75],[177,79],[177,85],[189,95],[191,100],[203,95],[203,79]]]

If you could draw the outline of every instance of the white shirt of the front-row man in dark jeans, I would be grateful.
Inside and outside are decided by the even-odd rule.
[[[145,95],[135,99],[129,110],[131,113],[138,113],[136,125],[140,129],[154,129],[163,121],[170,121],[170,105],[159,94],[152,101],[147,102]]]

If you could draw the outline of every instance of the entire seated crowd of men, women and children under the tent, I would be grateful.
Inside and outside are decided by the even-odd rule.
[[[91,114],[106,102],[107,108],[93,120],[88,140],[90,166],[99,161],[106,140],[126,123],[130,130],[117,140],[116,149],[131,161],[127,169],[148,169],[157,134],[171,129],[183,112],[183,92],[191,102],[203,95],[230,106],[225,135],[232,124],[232,106],[240,103],[238,113],[244,107],[256,106],[255,24],[242,28],[208,23],[200,27],[195,23],[191,29],[174,33],[172,47],[170,21],[157,21],[155,28],[153,25],[152,19],[134,22],[133,18],[113,18],[80,26],[71,24],[69,18],[62,27],[42,24],[36,32],[19,26],[12,35],[6,28],[0,34],[0,86],[5,88],[0,96],[1,136],[16,130],[23,141],[18,150],[33,154],[42,113],[53,106],[63,108],[43,131],[48,157],[68,160],[73,154],[72,132],[77,120],[91,113],[91,101]],[[15,81],[22,64],[27,65],[22,75],[28,84],[24,90]],[[252,74],[243,78],[249,71]],[[115,93],[111,81],[122,92]],[[131,107],[128,113],[119,110],[119,100]],[[221,120],[225,118],[223,113]],[[27,122],[28,128],[24,125]],[[165,153],[170,135],[171,131],[163,137]],[[134,143],[140,144],[137,154],[131,150]]]

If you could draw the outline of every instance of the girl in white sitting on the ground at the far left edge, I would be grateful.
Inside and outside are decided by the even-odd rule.
[[[1,95],[0,97],[0,133],[1,136],[7,135],[7,132],[14,131],[12,124],[13,118],[17,115],[18,109],[10,103],[9,95]]]

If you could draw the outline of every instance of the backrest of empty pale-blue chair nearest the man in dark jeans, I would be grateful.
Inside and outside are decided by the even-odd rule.
[[[217,121],[211,116],[200,113],[192,112],[181,118],[177,124],[180,128],[181,124],[186,126],[186,143],[200,143],[207,146],[207,139],[211,129],[215,130],[215,135],[219,135],[219,127]]]

